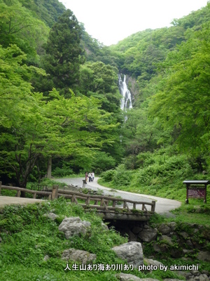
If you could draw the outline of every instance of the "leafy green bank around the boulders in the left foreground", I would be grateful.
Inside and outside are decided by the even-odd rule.
[[[53,211],[55,221],[43,214]],[[82,237],[74,236],[66,240],[58,226],[67,216],[79,216],[91,222],[91,229]],[[66,261],[62,260],[64,249],[75,248],[97,254],[94,264],[125,264],[111,250],[113,246],[127,242],[113,229],[102,226],[102,219],[94,211],[84,212],[83,208],[69,204],[59,198],[43,204],[27,206],[6,206],[0,209],[0,276],[1,281],[61,281],[61,280],[118,280],[119,270],[72,270],[73,262],[65,270]],[[138,270],[125,270],[139,277],[176,277],[168,270],[166,273],[156,270],[152,273]]]

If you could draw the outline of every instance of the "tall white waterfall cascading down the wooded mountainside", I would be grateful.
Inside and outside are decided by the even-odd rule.
[[[132,95],[129,89],[127,89],[126,75],[124,75],[124,79],[122,80],[121,75],[118,74],[118,79],[119,79],[119,89],[122,95],[120,108],[121,110],[126,111],[127,108],[132,108]]]

